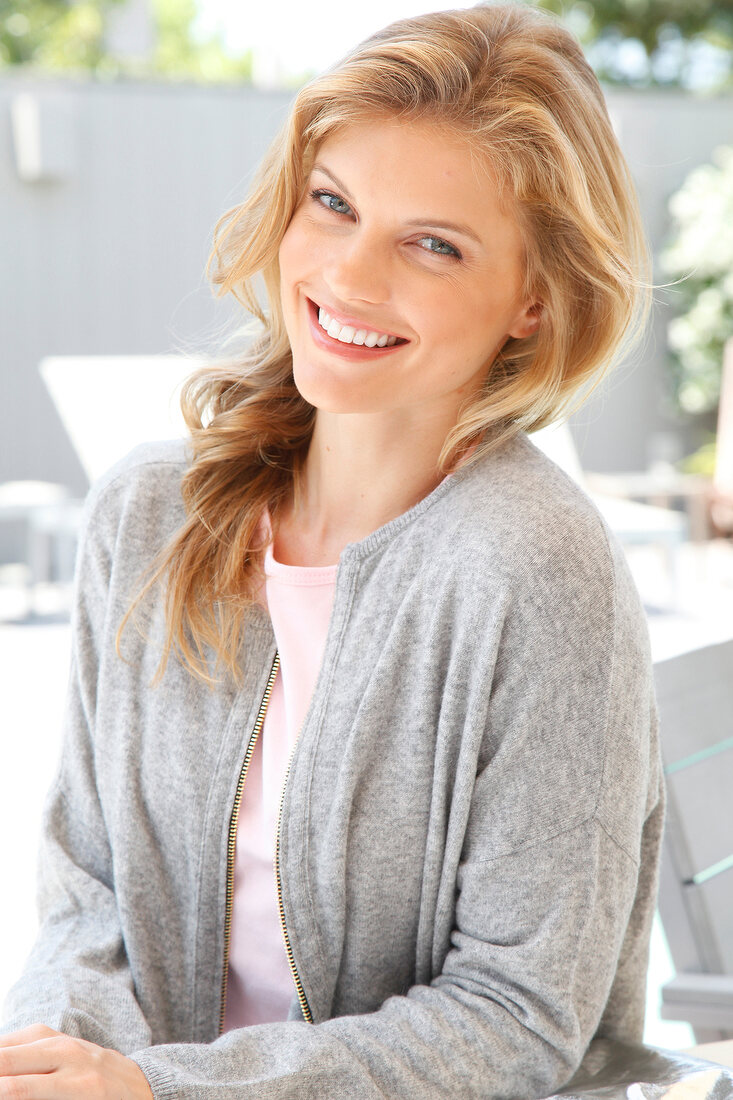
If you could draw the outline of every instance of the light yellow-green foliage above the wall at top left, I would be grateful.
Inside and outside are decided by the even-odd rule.
[[[219,37],[195,38],[195,0],[153,0],[155,46],[149,58],[118,57],[106,20],[124,0],[0,0],[0,69],[86,70],[98,76],[250,80],[251,54],[229,55]]]

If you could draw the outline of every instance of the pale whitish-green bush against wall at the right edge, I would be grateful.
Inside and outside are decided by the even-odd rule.
[[[696,168],[669,201],[672,235],[661,256],[676,318],[668,328],[674,386],[686,413],[716,408],[725,341],[733,337],[733,147]]]

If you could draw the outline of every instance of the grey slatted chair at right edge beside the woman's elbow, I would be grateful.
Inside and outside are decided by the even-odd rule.
[[[655,679],[668,793],[659,913],[677,969],[661,1016],[688,1021],[698,1042],[733,1038],[733,639],[658,662]]]

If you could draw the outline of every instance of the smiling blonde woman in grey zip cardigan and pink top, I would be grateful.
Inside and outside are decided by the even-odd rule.
[[[526,1100],[639,1037],[644,619],[524,430],[617,351],[643,252],[530,10],[397,23],[299,94],[217,235],[247,362],[91,494],[0,1097]]]

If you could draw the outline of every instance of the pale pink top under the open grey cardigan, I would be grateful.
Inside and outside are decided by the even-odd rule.
[[[265,552],[265,598],[281,663],[239,814],[225,1031],[286,1020],[295,990],[277,906],[275,831],[324,654],[337,569],[283,565],[272,547]]]

